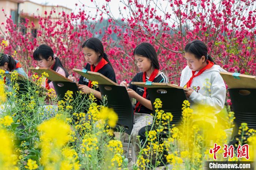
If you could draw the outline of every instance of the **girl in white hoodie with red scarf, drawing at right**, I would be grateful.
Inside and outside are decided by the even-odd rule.
[[[185,46],[185,58],[187,66],[181,72],[180,86],[189,89],[185,94],[191,108],[201,104],[211,107],[214,115],[219,113],[226,100],[226,86],[219,72],[226,71],[215,65],[208,55],[207,46],[200,40],[193,40]],[[211,116],[208,119],[212,119],[208,122],[214,127],[217,117]]]

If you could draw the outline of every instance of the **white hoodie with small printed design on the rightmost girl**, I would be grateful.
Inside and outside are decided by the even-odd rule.
[[[222,69],[219,65],[213,65],[210,69],[193,78],[190,87],[195,91],[188,98],[191,108],[196,104],[207,105],[213,108],[214,115],[224,108],[226,86],[219,72],[226,72],[226,70]],[[186,66],[181,72],[180,86],[186,87],[191,76],[192,70]],[[216,116],[211,117],[211,119],[210,121],[214,121],[212,123],[217,123]],[[214,124],[212,125],[214,126]]]

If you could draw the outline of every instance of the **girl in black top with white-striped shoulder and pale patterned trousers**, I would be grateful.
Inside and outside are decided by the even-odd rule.
[[[135,77],[132,78],[132,82],[151,81],[168,83],[167,76],[159,71],[157,53],[150,43],[141,43],[138,45],[133,51],[133,56],[141,72],[137,73]],[[131,82],[127,84],[125,81],[121,82],[120,85],[128,87],[127,92],[129,97],[136,99],[131,141],[135,147],[135,153],[138,154],[140,151],[139,140],[137,139],[138,132],[142,127],[152,124],[153,116],[150,114],[153,108],[147,93],[147,88],[132,85]]]

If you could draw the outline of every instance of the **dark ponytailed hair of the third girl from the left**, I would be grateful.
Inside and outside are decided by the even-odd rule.
[[[110,63],[110,61],[108,59],[108,55],[106,53],[104,53],[104,47],[101,43],[101,40],[99,40],[98,38],[89,38],[83,43],[82,48],[84,48],[84,47],[92,49],[96,53],[101,54],[101,55],[99,55],[98,62],[101,61],[101,58],[103,57],[109,63],[109,65],[112,67],[112,64]]]

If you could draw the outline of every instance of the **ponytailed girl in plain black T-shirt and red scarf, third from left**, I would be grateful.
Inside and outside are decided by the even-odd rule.
[[[104,48],[101,41],[97,38],[89,38],[83,43],[82,48],[84,58],[87,62],[84,68],[91,72],[101,73],[103,76],[106,76],[110,80],[116,82],[116,74],[108,59],[108,55],[104,53]],[[69,75],[68,78],[76,81],[75,77],[72,77],[71,75]],[[91,81],[87,78],[80,76],[78,84],[79,89],[84,94],[94,93],[95,97],[101,99],[99,88],[93,90]],[[100,100],[97,100],[97,103],[100,104]]]

